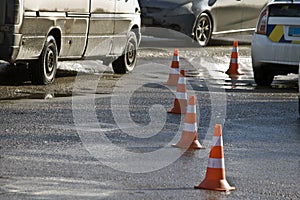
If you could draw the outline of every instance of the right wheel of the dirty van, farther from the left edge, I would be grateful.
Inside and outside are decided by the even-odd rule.
[[[113,61],[112,67],[116,74],[130,72],[136,65],[137,38],[133,31],[128,34],[127,43],[122,56]]]

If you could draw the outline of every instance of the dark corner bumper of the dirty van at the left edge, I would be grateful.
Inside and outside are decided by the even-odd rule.
[[[0,32],[0,34],[3,34],[3,41],[0,41],[0,60],[14,63],[19,54],[22,34],[7,32]]]

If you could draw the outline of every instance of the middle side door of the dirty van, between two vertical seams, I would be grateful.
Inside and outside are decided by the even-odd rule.
[[[90,27],[86,57],[98,57],[112,50],[116,0],[90,0]]]

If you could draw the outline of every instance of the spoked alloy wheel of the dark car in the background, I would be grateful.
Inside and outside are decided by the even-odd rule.
[[[212,21],[206,13],[202,13],[196,20],[194,38],[201,45],[208,45],[212,34]]]

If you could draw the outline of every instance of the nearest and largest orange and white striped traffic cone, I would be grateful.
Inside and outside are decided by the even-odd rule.
[[[220,124],[215,126],[213,146],[210,150],[205,179],[195,188],[218,191],[235,190],[235,187],[231,187],[225,178],[222,127]]]

